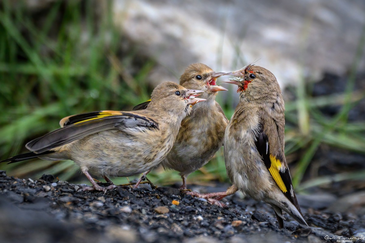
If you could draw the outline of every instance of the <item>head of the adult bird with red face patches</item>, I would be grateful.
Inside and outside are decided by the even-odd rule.
[[[240,70],[228,72],[224,75],[234,76],[234,78],[223,82],[237,85],[237,93],[243,93],[247,91],[253,94],[264,94],[273,90],[280,90],[280,87],[272,72],[266,68],[255,66],[253,64],[249,64]]]

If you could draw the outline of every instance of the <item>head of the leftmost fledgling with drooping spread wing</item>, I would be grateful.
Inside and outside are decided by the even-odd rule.
[[[183,118],[191,113],[191,106],[206,99],[196,98],[204,91],[185,89],[174,82],[164,82],[155,87],[151,94],[151,102],[147,109],[157,110],[164,114],[173,113]]]

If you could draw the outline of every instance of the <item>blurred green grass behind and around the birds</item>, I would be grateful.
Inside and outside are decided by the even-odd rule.
[[[3,1],[0,7],[0,156],[1,159],[27,152],[24,144],[58,128],[58,121],[70,114],[93,110],[130,110],[149,99],[153,87],[146,77],[154,60],[141,55],[138,46],[128,42],[112,21],[111,2],[94,9],[94,1],[55,1],[45,12],[30,13],[22,1]],[[223,24],[222,24],[223,26]],[[305,31],[304,31],[305,32]],[[365,122],[349,122],[349,110],[365,98],[364,90],[354,91],[358,62],[363,55],[364,36],[354,58],[345,94],[311,97],[306,79],[299,80],[297,99],[286,104],[285,153],[297,161],[292,169],[293,184],[299,189],[303,176],[321,144],[365,153]],[[223,37],[222,37],[223,38]],[[223,39],[222,39],[223,42]],[[127,48],[123,48],[127,46]],[[233,69],[247,63],[235,45]],[[222,50],[217,50],[221,56]],[[217,66],[220,66],[217,61]],[[234,112],[233,95],[218,95],[228,118]],[[320,107],[342,105],[335,117],[328,118]],[[289,159],[292,158],[292,159]],[[87,183],[72,161],[43,160],[0,165],[8,175],[38,179],[43,173],[59,180]],[[362,173],[362,174],[361,174]],[[363,175],[363,177],[361,177]],[[138,176],[136,176],[138,177]],[[175,171],[157,169],[149,174],[157,185],[180,182]],[[113,178],[116,184],[130,178]],[[365,172],[337,175],[338,180],[365,178]],[[227,181],[223,149],[188,183],[208,184]],[[310,185],[328,183],[316,178]]]

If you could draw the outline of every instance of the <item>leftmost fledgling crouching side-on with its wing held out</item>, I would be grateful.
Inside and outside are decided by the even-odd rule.
[[[14,163],[30,158],[73,160],[91,182],[82,190],[106,192],[90,173],[102,176],[138,175],[158,165],[169,153],[181,121],[192,105],[205,101],[196,98],[201,90],[189,90],[174,82],[155,87],[151,102],[140,111],[93,111],[61,119],[61,128],[26,144],[31,152],[0,162]]]

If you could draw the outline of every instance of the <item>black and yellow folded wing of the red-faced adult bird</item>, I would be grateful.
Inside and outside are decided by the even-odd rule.
[[[287,163],[284,161],[284,154],[274,156],[273,153],[270,153],[269,138],[264,130],[264,125],[260,124],[260,129],[255,141],[256,148],[280,190],[300,212],[300,207],[292,185],[292,178],[290,176]],[[273,136],[275,135],[276,134],[273,134]]]

